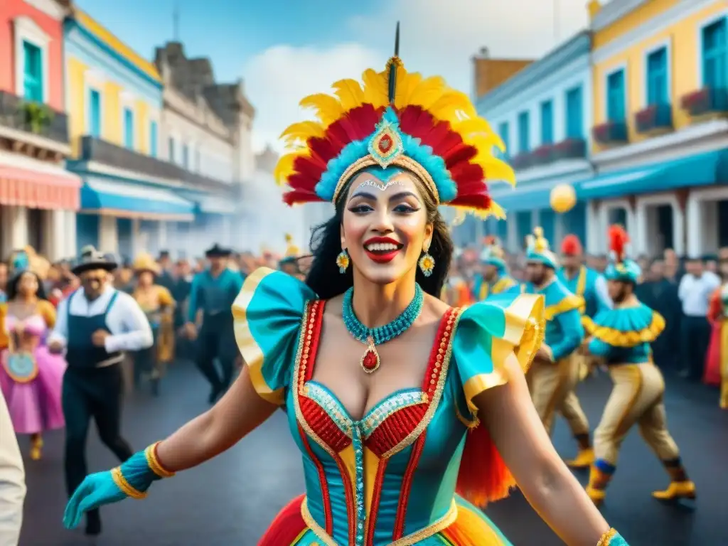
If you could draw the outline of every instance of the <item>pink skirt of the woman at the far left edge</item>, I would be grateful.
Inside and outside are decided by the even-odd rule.
[[[8,373],[5,367],[8,356],[7,350],[0,355],[3,364],[0,365],[0,388],[15,432],[36,434],[63,428],[66,421],[63,419],[61,392],[66,360],[60,355],[52,355],[47,347],[38,347],[33,352],[38,374],[35,379],[23,383]]]

